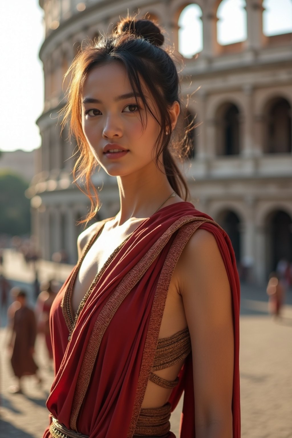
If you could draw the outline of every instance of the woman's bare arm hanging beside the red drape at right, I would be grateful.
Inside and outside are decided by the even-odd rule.
[[[196,428],[229,422],[234,360],[232,298],[215,237],[197,230],[183,250],[179,267],[179,288],[192,343]]]

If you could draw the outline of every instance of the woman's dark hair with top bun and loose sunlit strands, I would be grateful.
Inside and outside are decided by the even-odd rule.
[[[123,65],[136,102],[140,99],[146,109],[146,115],[140,113],[144,127],[147,125],[147,114],[151,114],[160,126],[155,143],[157,164],[163,162],[165,175],[173,191],[185,200],[188,198],[186,181],[172,155],[176,152],[179,158],[185,157],[192,147],[191,136],[187,129],[178,141],[172,135],[169,108],[176,101],[180,104],[179,78],[168,50],[161,47],[163,42],[160,29],[152,21],[126,18],[118,23],[112,35],[101,36],[97,42],[83,47],[67,71],[66,76],[71,78],[62,124],[64,127],[67,120],[70,120],[70,133],[74,134],[80,151],[73,170],[74,182],[91,201],[91,210],[81,222],[94,218],[100,206],[98,193],[91,182],[91,175],[98,164],[82,130],[82,86],[93,68],[113,61]],[[153,106],[157,110],[155,113],[151,109]],[[79,180],[82,181],[82,187],[78,184]]]

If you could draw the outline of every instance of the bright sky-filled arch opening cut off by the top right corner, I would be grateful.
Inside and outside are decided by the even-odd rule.
[[[263,7],[264,35],[292,32],[292,0],[264,0]]]

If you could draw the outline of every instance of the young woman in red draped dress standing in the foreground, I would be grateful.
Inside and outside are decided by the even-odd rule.
[[[70,68],[64,123],[80,149],[87,219],[99,207],[97,165],[117,177],[120,211],[80,235],[52,306],[45,438],[174,437],[183,391],[182,438],[240,434],[236,264],[225,232],[184,201],[170,152],[179,80],[163,40],[151,21],[126,19]]]

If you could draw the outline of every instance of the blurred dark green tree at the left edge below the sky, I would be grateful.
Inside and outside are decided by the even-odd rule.
[[[28,183],[8,170],[0,171],[0,233],[11,236],[30,233]]]

